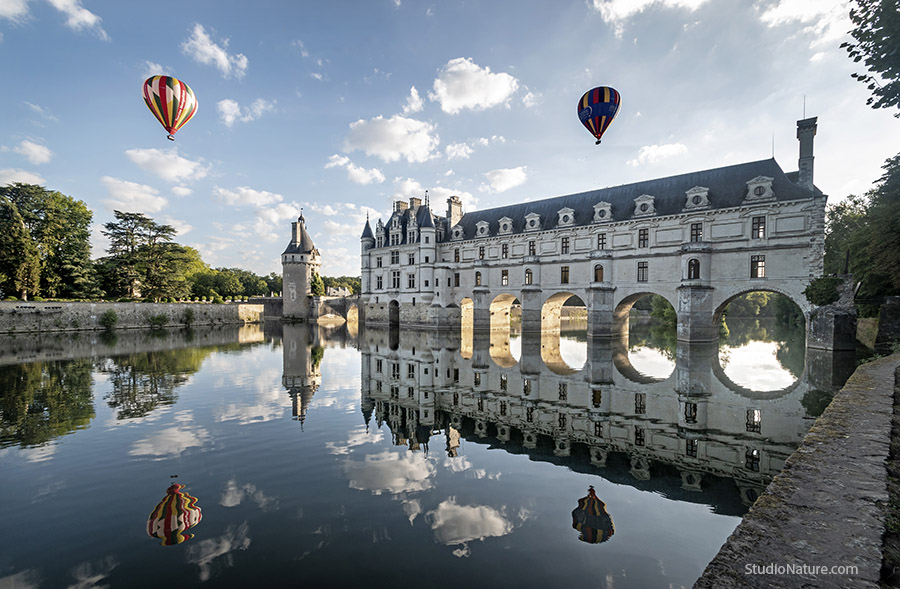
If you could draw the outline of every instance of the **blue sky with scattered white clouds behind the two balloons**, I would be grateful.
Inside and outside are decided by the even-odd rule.
[[[281,271],[301,207],[323,274],[359,275],[359,236],[396,199],[486,209],[773,156],[861,194],[900,151],[839,46],[846,0],[0,0],[0,185],[178,231],[212,267]],[[157,74],[198,110],[175,136]],[[594,145],[576,104],[622,96]]]

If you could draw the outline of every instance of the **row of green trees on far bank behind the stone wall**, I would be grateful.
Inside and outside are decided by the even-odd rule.
[[[175,241],[171,225],[142,213],[114,211],[101,232],[105,256],[91,259],[93,212],[80,200],[33,184],[0,187],[0,299],[217,300],[282,291],[281,274],[211,268]],[[358,277],[316,277],[315,286],[346,286]]]

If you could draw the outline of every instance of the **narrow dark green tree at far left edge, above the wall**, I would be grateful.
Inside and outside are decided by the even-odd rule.
[[[19,209],[0,195],[0,291],[20,299],[37,295],[41,278],[38,249]]]

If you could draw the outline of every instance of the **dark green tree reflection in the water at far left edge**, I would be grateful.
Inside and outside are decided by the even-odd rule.
[[[90,360],[0,367],[0,447],[38,446],[94,418]]]

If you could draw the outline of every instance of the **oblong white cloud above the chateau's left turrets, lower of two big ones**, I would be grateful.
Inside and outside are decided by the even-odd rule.
[[[350,123],[350,134],[344,140],[344,150],[364,151],[385,162],[405,159],[409,163],[424,162],[435,157],[440,143],[429,123],[394,115],[385,119],[379,115],[368,121]]]

